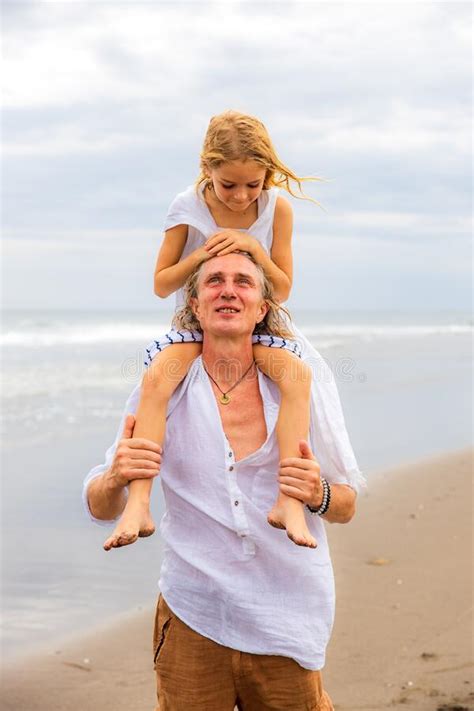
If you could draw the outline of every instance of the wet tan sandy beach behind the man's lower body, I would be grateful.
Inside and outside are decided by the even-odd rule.
[[[380,472],[354,520],[328,525],[337,609],[324,681],[336,711],[474,709],[471,472],[470,450]],[[152,617],[4,664],[2,709],[152,711]]]

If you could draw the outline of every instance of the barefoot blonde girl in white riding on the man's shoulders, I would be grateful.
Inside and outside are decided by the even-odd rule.
[[[261,121],[236,111],[211,119],[200,167],[196,185],[180,193],[168,211],[155,270],[155,293],[164,298],[176,292],[179,308],[182,286],[197,264],[239,250],[253,255],[272,282],[275,299],[286,301],[292,285],[292,209],[278,195],[277,186],[294,195],[290,180],[301,192],[302,180],[317,178],[298,178],[279,160]],[[349,474],[356,484],[361,475],[332,373],[305,337],[292,330],[295,340],[253,337],[255,361],[281,393],[276,425],[280,458],[301,456],[299,441],[307,439],[310,430],[321,472],[334,483],[338,478],[346,482]],[[142,382],[134,437],[162,444],[169,398],[201,352],[198,339],[202,341],[202,336],[196,332],[172,329],[147,349],[151,365]],[[232,407],[232,390],[243,376],[210,374],[221,404]],[[151,480],[130,483],[127,505],[104,544],[106,550],[154,532],[149,511],[151,487]],[[298,499],[280,493],[268,522],[286,529],[297,545],[316,547]]]

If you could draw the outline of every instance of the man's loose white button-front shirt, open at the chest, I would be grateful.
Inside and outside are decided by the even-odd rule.
[[[321,518],[306,509],[316,549],[295,545],[267,522],[278,495],[280,394],[260,371],[258,377],[267,439],[237,462],[201,357],[170,400],[159,476],[166,504],[159,587],[171,610],[205,637],[242,652],[282,655],[306,669],[321,669],[335,604],[326,532]],[[109,468],[139,394],[137,386],[105,463],[84,481],[84,504],[97,523],[104,522],[89,510],[87,486]]]

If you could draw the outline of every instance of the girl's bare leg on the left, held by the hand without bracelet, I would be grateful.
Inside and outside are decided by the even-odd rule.
[[[201,350],[201,343],[179,343],[155,356],[143,376],[134,437],[163,444],[168,401]],[[127,546],[135,543],[138,537],[151,536],[155,532],[150,514],[152,485],[153,479],[130,482],[127,504],[114,532],[104,543],[105,550]]]

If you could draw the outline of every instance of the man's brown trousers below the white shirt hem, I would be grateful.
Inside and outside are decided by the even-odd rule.
[[[153,651],[159,711],[334,711],[321,672],[217,644],[176,617],[162,595]]]

